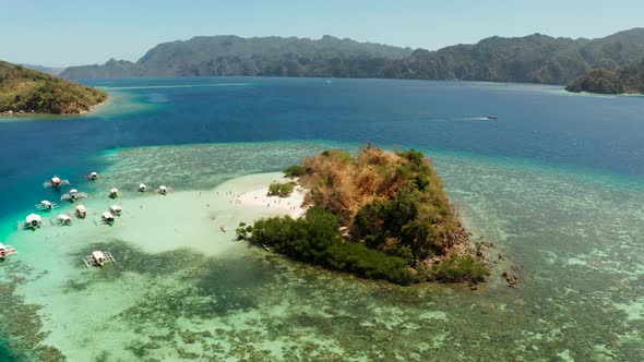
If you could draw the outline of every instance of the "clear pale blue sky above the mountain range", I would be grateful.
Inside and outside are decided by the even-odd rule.
[[[438,49],[492,35],[595,38],[639,26],[644,0],[0,0],[0,59],[135,61],[196,35],[330,34]]]

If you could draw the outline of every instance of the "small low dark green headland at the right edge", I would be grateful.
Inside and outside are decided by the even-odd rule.
[[[644,94],[644,61],[636,65],[589,71],[565,90],[597,94]]]

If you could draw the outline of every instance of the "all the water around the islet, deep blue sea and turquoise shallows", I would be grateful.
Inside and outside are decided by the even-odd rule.
[[[15,359],[644,359],[641,99],[440,82],[338,81],[335,92],[317,80],[204,86],[213,82],[116,81],[109,86],[140,89],[118,90],[128,96],[88,119],[0,124],[7,140],[15,132],[60,145],[0,165],[9,174],[2,234],[21,252],[0,264],[9,301],[0,335]],[[500,120],[463,120],[487,114]],[[496,245],[487,286],[360,280],[234,243],[215,226],[202,232],[207,220],[171,234],[166,213],[206,209],[202,200],[220,222],[261,215],[219,197],[252,183],[239,177],[365,140],[432,157],[470,231]],[[62,154],[72,157],[57,159]],[[108,178],[80,181],[90,169]],[[126,193],[131,215],[112,228],[12,232],[11,221],[50,196],[35,189],[53,172],[92,195],[139,182],[184,193]],[[150,229],[150,213],[160,231]],[[117,265],[79,265],[95,248],[111,250]],[[500,277],[511,265],[516,290]]]

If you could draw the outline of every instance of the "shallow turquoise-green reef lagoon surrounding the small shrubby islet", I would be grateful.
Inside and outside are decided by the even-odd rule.
[[[232,225],[265,213],[232,209],[217,192],[269,180],[274,176],[261,172],[313,152],[355,146],[253,142],[90,155],[86,162],[106,174],[81,183],[95,195],[87,201],[93,209],[111,204],[100,195],[112,185],[129,191],[141,181],[163,182],[178,192],[165,198],[126,193],[121,202],[133,215],[111,228],[88,219],[9,234],[7,243],[20,254],[0,264],[0,291],[9,301],[0,306],[0,335],[14,358],[27,360],[34,346],[52,346],[69,360],[114,361],[644,358],[637,176],[584,162],[426,149],[470,230],[521,266],[518,290],[498,273],[476,291],[360,280],[249,249],[208,221],[211,207]],[[238,179],[245,174],[251,176]],[[202,209],[190,227],[187,208],[195,200]],[[172,210],[182,220],[176,234]],[[118,263],[86,269],[80,258],[95,246],[110,250]]]

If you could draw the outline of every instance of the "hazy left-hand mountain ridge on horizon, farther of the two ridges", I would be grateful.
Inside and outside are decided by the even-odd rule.
[[[68,79],[115,76],[371,76],[373,69],[403,59],[410,48],[324,36],[308,38],[199,36],[160,44],[136,63],[71,67]],[[374,63],[373,63],[374,62]]]

